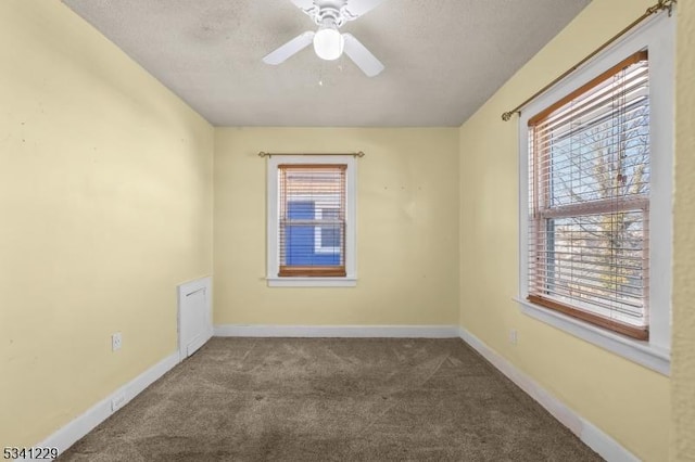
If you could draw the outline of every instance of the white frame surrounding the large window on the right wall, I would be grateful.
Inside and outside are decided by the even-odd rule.
[[[674,21],[666,14],[646,22],[531,102],[519,118],[519,294],[523,313],[649,369],[670,373]],[[639,341],[533,304],[529,295],[529,119],[628,56],[649,59],[649,338]]]

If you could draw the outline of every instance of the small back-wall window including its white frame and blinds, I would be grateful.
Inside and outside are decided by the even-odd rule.
[[[354,164],[332,155],[268,159],[269,285],[354,285]]]

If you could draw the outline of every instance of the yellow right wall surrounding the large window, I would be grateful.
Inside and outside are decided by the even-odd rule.
[[[513,301],[519,275],[518,124],[501,119],[653,3],[594,0],[463,125],[460,323],[637,457],[661,461],[669,450],[669,378],[535,321]],[[687,111],[692,115],[692,105]],[[688,155],[692,167],[692,150]],[[692,211],[692,204],[683,208]],[[688,272],[692,279],[692,257],[688,264],[683,280]],[[685,298],[692,300],[692,293]],[[508,342],[511,329],[518,331],[516,346]]]

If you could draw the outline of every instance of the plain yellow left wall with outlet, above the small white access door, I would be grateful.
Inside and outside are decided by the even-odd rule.
[[[176,284],[212,270],[213,141],[62,3],[0,2],[0,447],[175,351]]]

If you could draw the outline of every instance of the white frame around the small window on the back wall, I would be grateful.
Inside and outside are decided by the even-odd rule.
[[[279,165],[345,165],[345,275],[344,277],[280,277],[279,248]],[[270,287],[345,287],[355,286],[356,264],[356,161],[352,155],[282,155],[267,159],[267,262],[266,281]]]

